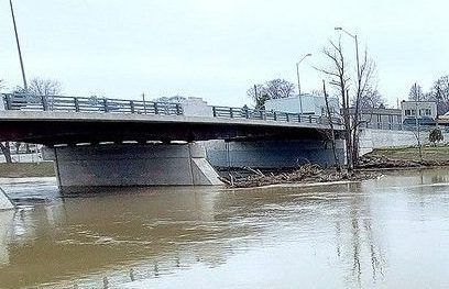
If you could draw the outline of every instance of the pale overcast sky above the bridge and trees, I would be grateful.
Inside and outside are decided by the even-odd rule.
[[[242,105],[255,82],[285,78],[320,88],[320,49],[341,25],[377,65],[388,103],[414,81],[449,74],[446,1],[14,0],[28,78],[57,79],[66,95],[174,95]],[[0,0],[0,78],[21,85],[9,1]],[[352,56],[353,43],[343,37]],[[353,65],[353,62],[352,62]],[[149,98],[150,98],[149,97]]]

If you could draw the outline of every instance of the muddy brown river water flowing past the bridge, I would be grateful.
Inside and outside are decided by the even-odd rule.
[[[449,170],[62,198],[0,179],[0,288],[448,288]]]

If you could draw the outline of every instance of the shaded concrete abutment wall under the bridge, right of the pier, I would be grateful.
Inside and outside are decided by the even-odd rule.
[[[333,165],[330,143],[308,141],[205,142],[207,158],[213,167],[288,168],[308,162]],[[338,141],[340,162],[344,162],[343,141]]]

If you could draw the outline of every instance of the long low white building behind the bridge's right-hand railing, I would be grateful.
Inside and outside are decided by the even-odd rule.
[[[338,98],[329,97],[328,100],[330,110],[338,112],[340,109]],[[326,112],[326,101],[324,96],[305,93],[289,98],[270,99],[265,102],[265,110],[322,115]]]

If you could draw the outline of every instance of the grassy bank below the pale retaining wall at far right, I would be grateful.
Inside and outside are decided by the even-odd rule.
[[[417,147],[376,148],[369,156],[419,160],[419,149]],[[426,162],[449,163],[449,146],[425,146],[423,147],[423,159]]]

